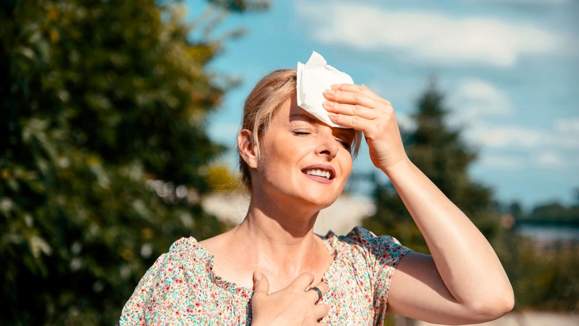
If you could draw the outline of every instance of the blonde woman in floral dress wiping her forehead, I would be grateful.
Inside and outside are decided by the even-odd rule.
[[[325,97],[332,121],[351,128],[297,106],[295,69],[258,82],[237,137],[251,191],[245,219],[213,238],[176,241],[141,279],[120,325],[382,325],[385,313],[459,325],[512,309],[493,248],[409,161],[390,102],[351,84]],[[432,255],[362,227],[313,233],[320,209],[342,192],[362,133]]]

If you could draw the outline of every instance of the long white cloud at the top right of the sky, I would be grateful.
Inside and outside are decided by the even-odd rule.
[[[571,37],[529,23],[336,2],[302,1],[296,12],[313,25],[309,37],[317,41],[361,50],[397,49],[406,57],[435,63],[465,61],[510,67],[527,53],[574,53]]]

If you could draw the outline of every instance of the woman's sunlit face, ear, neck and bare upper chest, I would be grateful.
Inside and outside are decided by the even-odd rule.
[[[238,137],[241,157],[251,168],[247,215],[239,226],[199,243],[214,253],[215,274],[237,285],[252,288],[254,270],[267,276],[270,292],[287,287],[304,271],[314,274],[315,285],[334,258],[314,235],[314,222],[320,209],[339,197],[350,175],[352,158],[346,144],[353,142],[354,130],[324,124],[299,107],[293,96],[259,140],[261,160],[250,137],[247,129]],[[317,182],[302,172],[318,163],[335,169],[332,183]]]

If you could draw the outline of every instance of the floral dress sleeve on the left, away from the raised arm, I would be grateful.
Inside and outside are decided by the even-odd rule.
[[[189,325],[189,311],[177,309],[189,298],[190,277],[187,266],[191,238],[174,242],[138,282],[124,305],[119,325]],[[189,315],[189,316],[188,316]]]

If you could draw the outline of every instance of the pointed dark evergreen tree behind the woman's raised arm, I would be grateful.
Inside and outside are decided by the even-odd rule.
[[[401,128],[408,158],[490,239],[499,233],[498,216],[489,187],[470,180],[467,168],[477,158],[460,139],[461,129],[450,129],[444,118],[444,95],[434,79],[417,101],[412,115],[416,129]],[[376,184],[376,213],[362,226],[376,234],[390,234],[415,251],[430,253],[426,241],[391,183]]]

